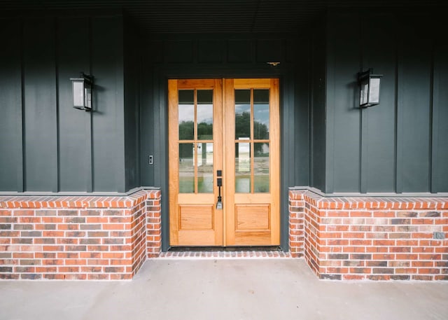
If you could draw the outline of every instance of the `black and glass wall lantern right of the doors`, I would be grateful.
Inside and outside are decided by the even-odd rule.
[[[358,73],[358,83],[360,85],[359,106],[367,108],[379,104],[379,83],[382,74],[372,74],[373,69]]]

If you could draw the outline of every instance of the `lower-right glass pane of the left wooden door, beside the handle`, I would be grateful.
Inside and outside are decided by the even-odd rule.
[[[197,192],[213,193],[213,144],[197,144]]]

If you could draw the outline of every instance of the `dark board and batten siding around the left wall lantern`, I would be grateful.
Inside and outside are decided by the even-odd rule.
[[[0,190],[125,192],[137,186],[138,161],[128,161],[125,170],[125,158],[135,159],[137,151],[129,146],[135,137],[125,134],[125,116],[135,113],[127,96],[136,89],[123,86],[123,17],[6,19],[1,25]],[[80,71],[94,75],[92,113],[71,104],[69,78]]]

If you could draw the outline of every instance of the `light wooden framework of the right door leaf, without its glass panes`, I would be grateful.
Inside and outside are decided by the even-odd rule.
[[[256,139],[253,131],[254,90],[269,90],[269,138]],[[235,90],[251,90],[251,136],[241,139],[235,137]],[[228,246],[274,246],[280,244],[279,207],[279,80],[278,79],[225,79],[224,82],[224,121],[225,121],[225,243]],[[236,146],[251,145],[251,190],[237,193],[235,188]],[[269,188],[256,193],[254,145],[265,143],[269,146]]]

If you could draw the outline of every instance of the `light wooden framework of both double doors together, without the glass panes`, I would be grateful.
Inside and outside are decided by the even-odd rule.
[[[169,87],[169,227],[170,245],[172,246],[279,246],[280,245],[280,116],[279,116],[279,78],[223,78],[223,79],[170,79]],[[194,137],[181,137],[179,129],[179,115],[181,114],[181,102],[178,102],[180,90],[190,90],[195,93],[194,112],[189,113],[195,126],[200,121],[197,108],[200,108],[200,90],[213,90],[213,137],[200,137],[200,132],[195,129]],[[249,105],[251,108],[250,134],[244,136],[243,142],[235,137],[236,90],[251,92]],[[257,103],[256,90],[268,90],[269,100],[268,125],[269,134],[257,137],[255,133]],[[253,92],[253,96],[252,96]],[[190,99],[193,99],[193,95]],[[190,101],[190,100],[189,100]],[[188,102],[188,104],[192,104]],[[198,109],[199,110],[199,109]],[[199,112],[199,111],[198,111]],[[178,115],[179,113],[179,115]],[[197,116],[196,116],[197,114]],[[193,127],[192,127],[193,130]],[[204,140],[205,139],[205,140]],[[197,190],[200,179],[201,165],[194,165],[197,158],[196,147],[202,143],[212,143],[213,155],[213,189],[207,192]],[[269,156],[258,155],[255,152],[256,144],[266,144],[269,148]],[[194,190],[182,191],[181,183],[181,158],[180,146],[193,145],[193,168],[190,162],[187,167],[193,169]],[[249,175],[251,176],[250,190],[237,191],[237,164],[236,147],[248,144],[251,146],[251,160]],[[189,150],[189,151],[188,151]],[[184,150],[186,151],[186,150]],[[191,146],[187,148],[187,153]],[[191,155],[184,155],[190,158]],[[207,157],[209,158],[209,157]],[[257,160],[258,159],[258,160]],[[260,161],[268,165],[267,183],[268,190],[256,190],[256,178],[261,178],[256,173]],[[209,160],[207,161],[209,162]],[[190,165],[188,165],[190,164]],[[258,164],[258,165],[257,165]],[[264,166],[263,165],[263,166]],[[260,167],[258,167],[260,169]],[[223,170],[223,171],[222,171]],[[223,172],[217,175],[216,172]],[[190,172],[190,170],[188,170]],[[207,169],[209,172],[209,167]],[[210,173],[210,172],[209,172]],[[246,172],[244,172],[246,174]],[[223,183],[223,209],[215,209],[218,197],[216,181],[221,178]],[[207,179],[210,179],[208,176]],[[255,180],[254,180],[255,179]],[[264,180],[265,181],[265,180]],[[221,189],[221,188],[220,188]],[[221,190],[220,190],[221,191]],[[255,211],[254,211],[255,210]],[[256,214],[257,219],[253,219]],[[182,222],[181,222],[182,221]]]

